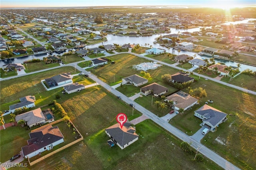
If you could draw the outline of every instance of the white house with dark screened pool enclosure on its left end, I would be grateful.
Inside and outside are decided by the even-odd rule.
[[[49,87],[70,84],[73,83],[70,73],[62,73],[59,75],[55,75],[51,78],[45,79],[45,82],[48,84]]]

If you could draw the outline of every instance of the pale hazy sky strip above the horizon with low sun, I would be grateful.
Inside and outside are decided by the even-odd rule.
[[[0,8],[73,6],[256,6],[256,0],[0,0]]]

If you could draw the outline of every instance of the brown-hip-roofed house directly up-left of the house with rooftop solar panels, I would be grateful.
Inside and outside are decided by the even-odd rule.
[[[159,85],[158,83],[151,83],[150,85],[146,85],[140,88],[140,92],[144,93],[145,95],[154,94],[156,96],[164,95],[168,93],[169,89]]]

